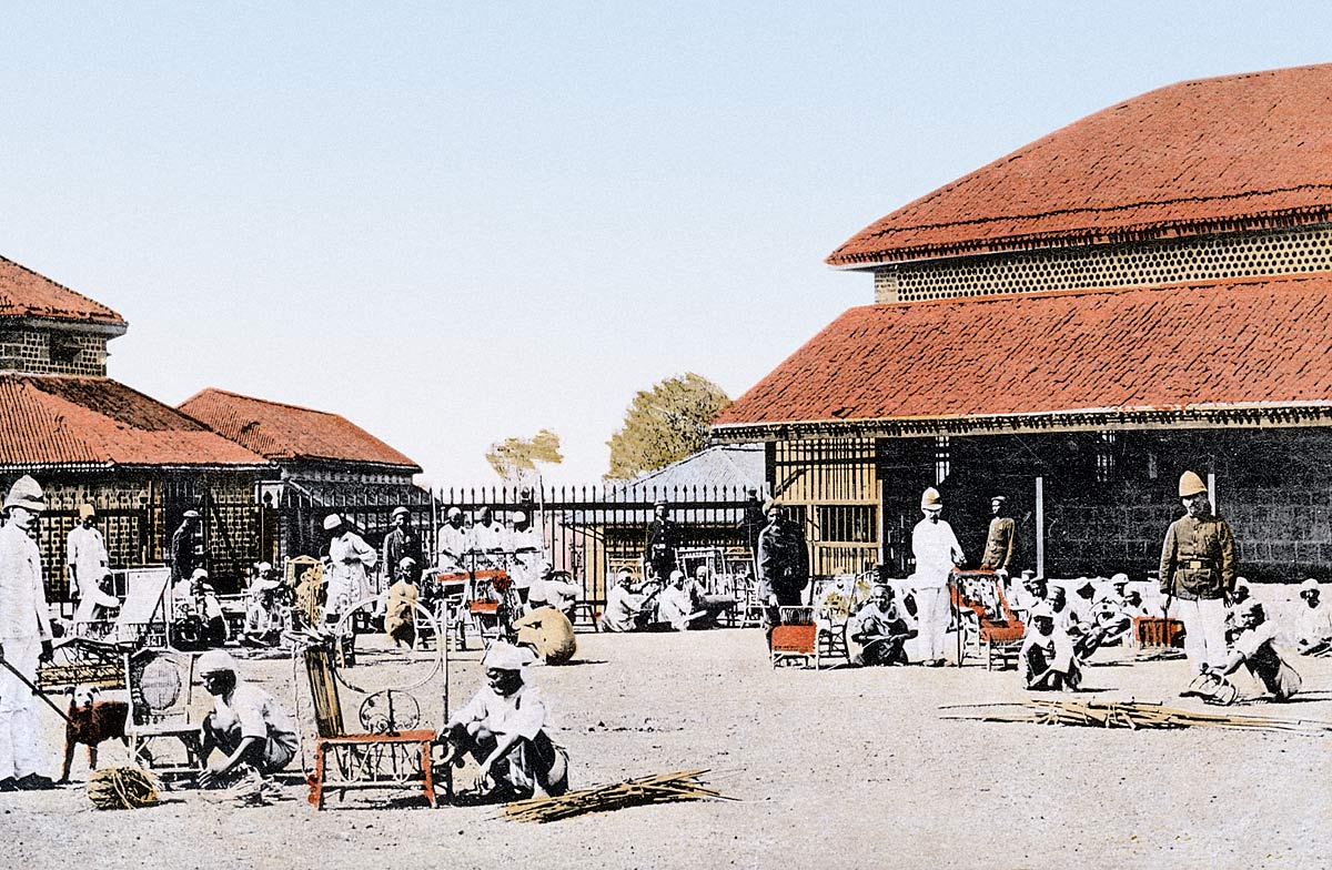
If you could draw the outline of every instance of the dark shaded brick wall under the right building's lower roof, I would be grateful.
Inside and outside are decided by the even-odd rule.
[[[1008,496],[1018,520],[1015,565],[1035,568],[1035,477],[1044,478],[1046,573],[1143,578],[1160,562],[1169,524],[1183,516],[1181,472],[1216,474],[1217,513],[1231,524],[1240,573],[1260,582],[1332,580],[1332,432],[1315,428],[1116,433],[1114,462],[1098,474],[1096,433],[954,438],[940,485],[944,518],[972,561],[990,496]],[[934,482],[923,438],[883,442],[890,565],[908,572],[920,490]]]

